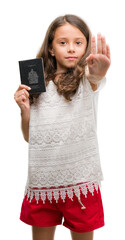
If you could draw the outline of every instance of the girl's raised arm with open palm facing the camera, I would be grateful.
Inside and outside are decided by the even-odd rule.
[[[111,63],[110,48],[106,44],[105,37],[97,36],[97,49],[95,37],[91,40],[91,54],[86,58],[86,77],[89,80],[93,91],[98,88],[99,81],[106,75]]]

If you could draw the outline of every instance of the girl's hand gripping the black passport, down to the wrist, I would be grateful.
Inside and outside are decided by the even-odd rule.
[[[21,84],[14,94],[14,99],[20,107],[21,113],[25,113],[30,109],[29,90],[31,90],[30,87]]]

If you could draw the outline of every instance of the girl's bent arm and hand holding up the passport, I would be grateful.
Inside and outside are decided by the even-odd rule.
[[[25,141],[29,141],[29,120],[30,120],[30,88],[26,85],[20,85],[14,94],[14,98],[21,110],[21,128]]]

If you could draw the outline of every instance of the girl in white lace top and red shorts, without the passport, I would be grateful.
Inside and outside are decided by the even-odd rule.
[[[110,50],[74,15],[56,18],[37,54],[46,89],[37,96],[20,85],[15,100],[29,142],[29,166],[20,219],[33,240],[53,240],[57,225],[73,240],[92,240],[104,226],[102,171],[96,134],[98,92],[110,66]]]

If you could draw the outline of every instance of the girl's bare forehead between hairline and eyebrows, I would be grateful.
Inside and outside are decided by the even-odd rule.
[[[56,38],[83,38],[86,39],[84,34],[79,28],[66,23],[56,29],[54,39]]]

